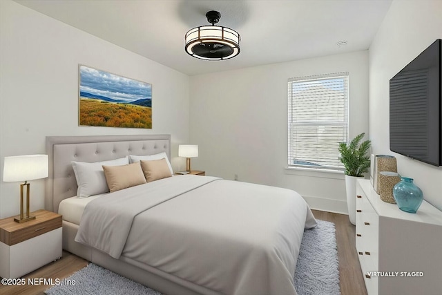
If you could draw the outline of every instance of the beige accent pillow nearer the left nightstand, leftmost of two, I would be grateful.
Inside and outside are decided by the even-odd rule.
[[[122,166],[103,166],[103,171],[111,193],[146,183],[140,163]]]

